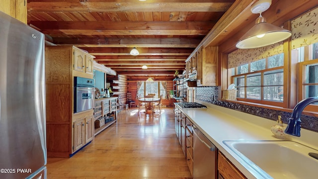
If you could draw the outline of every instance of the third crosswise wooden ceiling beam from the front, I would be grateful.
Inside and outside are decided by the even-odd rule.
[[[77,47],[192,47],[201,39],[194,38],[58,38],[53,43]]]

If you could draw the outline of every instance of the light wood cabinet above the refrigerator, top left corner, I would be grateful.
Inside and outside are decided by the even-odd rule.
[[[0,11],[27,23],[27,0],[0,0]]]

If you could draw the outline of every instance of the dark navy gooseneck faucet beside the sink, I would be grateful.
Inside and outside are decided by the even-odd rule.
[[[286,134],[294,135],[300,137],[300,128],[301,128],[301,120],[300,116],[305,109],[306,106],[313,102],[318,102],[318,97],[309,97],[307,99],[303,99],[293,109],[292,116],[288,118],[289,122],[285,129]]]

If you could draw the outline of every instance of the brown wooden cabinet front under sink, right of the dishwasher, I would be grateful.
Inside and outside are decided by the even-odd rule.
[[[219,179],[247,179],[220,151],[218,154]]]

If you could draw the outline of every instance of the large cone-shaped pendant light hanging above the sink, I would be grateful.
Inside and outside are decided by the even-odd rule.
[[[291,31],[277,27],[266,22],[266,18],[261,15],[267,10],[271,0],[259,0],[251,7],[252,13],[259,13],[255,20],[255,25],[249,29],[237,43],[239,49],[252,49],[268,46],[283,41],[292,35]]]

